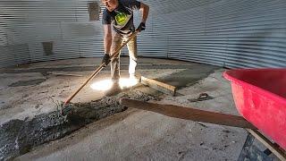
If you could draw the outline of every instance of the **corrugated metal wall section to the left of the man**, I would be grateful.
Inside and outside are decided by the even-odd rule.
[[[101,56],[102,25],[89,21],[88,0],[0,0],[0,67]],[[43,42],[53,42],[46,55]]]

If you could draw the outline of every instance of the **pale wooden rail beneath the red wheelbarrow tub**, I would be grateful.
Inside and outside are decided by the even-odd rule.
[[[261,134],[259,131],[247,129],[251,135],[253,135],[257,140],[259,140],[262,144],[265,145],[266,148],[268,148],[276,157],[278,157],[281,160],[286,160],[286,152],[285,150],[282,150],[282,148],[279,147],[279,145],[271,142],[263,134]]]

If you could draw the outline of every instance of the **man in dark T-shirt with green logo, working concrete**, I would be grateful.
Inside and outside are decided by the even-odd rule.
[[[138,2],[137,0],[101,0],[105,4],[102,23],[105,30],[104,46],[105,56],[102,63],[108,64],[111,61],[111,77],[113,80],[112,88],[107,91],[106,95],[112,95],[119,92],[120,79],[120,53],[118,56],[110,60],[110,55],[122,46],[132,32],[135,31],[133,24],[133,10],[139,10],[142,19],[138,27],[138,31],[145,30],[145,23],[149,12],[147,4]],[[112,30],[113,28],[113,30]],[[137,65],[137,38],[130,39],[127,44],[130,56],[129,74],[130,79],[136,79],[135,68]]]

